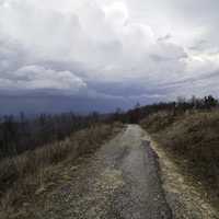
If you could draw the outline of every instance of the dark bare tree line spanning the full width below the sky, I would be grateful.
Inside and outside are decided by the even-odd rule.
[[[34,118],[28,118],[21,113],[19,117],[2,116],[0,117],[0,160],[62,140],[72,132],[97,123],[122,122],[135,124],[159,111],[168,111],[173,115],[177,115],[188,110],[210,110],[217,106],[218,101],[208,95],[204,99],[193,96],[189,100],[178,97],[174,102],[160,102],[146,106],[137,104],[130,111],[123,112],[118,108],[115,113],[107,115],[92,113],[81,116],[73,113],[64,113],[59,115],[41,114]]]

